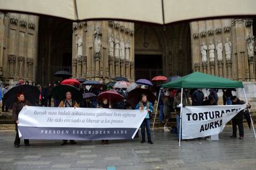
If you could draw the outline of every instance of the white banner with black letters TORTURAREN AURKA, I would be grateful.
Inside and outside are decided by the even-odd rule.
[[[220,134],[226,123],[245,107],[244,104],[182,108],[182,139]]]

